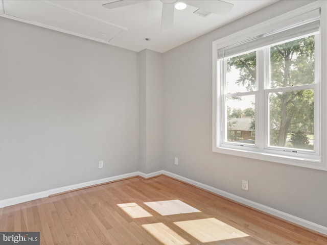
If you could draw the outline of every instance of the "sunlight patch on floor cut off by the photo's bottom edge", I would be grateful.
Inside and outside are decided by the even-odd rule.
[[[157,238],[164,245],[186,245],[190,244],[190,242],[186,241],[168,226],[163,223],[155,223],[155,224],[147,224],[142,225],[144,229],[146,229],[151,235]]]

